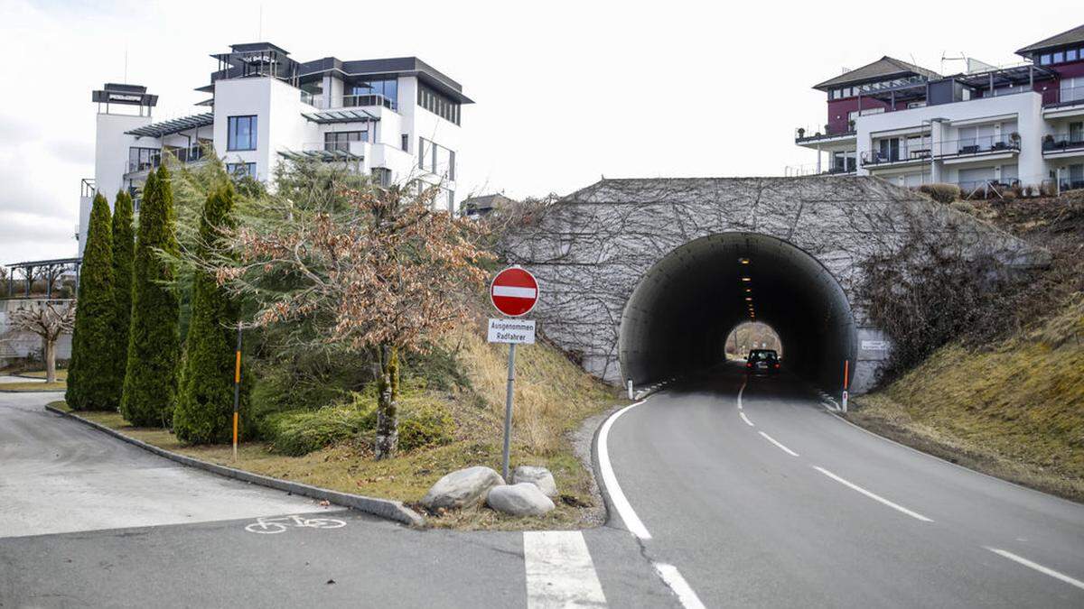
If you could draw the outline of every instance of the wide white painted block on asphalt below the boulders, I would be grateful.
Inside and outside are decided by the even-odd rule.
[[[606,596],[579,531],[524,533],[527,607],[605,607]]]

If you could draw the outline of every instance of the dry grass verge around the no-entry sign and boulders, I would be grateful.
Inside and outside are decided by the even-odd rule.
[[[417,502],[444,474],[473,465],[501,470],[507,348],[488,345],[477,333],[464,332],[453,338],[464,367],[470,371],[472,390],[404,396],[404,407],[440,402],[455,418],[454,441],[389,461],[373,461],[370,446],[361,441],[299,457],[272,453],[262,442],[247,442],[241,445],[240,458],[234,463],[230,446],[186,446],[169,431],[130,427],[118,413],[79,414],[196,458],[336,491],[398,500],[421,510]],[[433,515],[429,523],[439,528],[507,530],[585,526],[599,506],[592,495],[591,475],[576,458],[566,431],[616,403],[615,390],[584,374],[556,349],[541,344],[518,348],[512,466],[550,468],[562,492],[555,501],[557,509],[539,518],[511,518],[489,509],[472,509]]]

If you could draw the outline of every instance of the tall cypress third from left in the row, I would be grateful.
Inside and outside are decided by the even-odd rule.
[[[120,414],[141,427],[168,427],[177,399],[180,303],[172,287],[178,254],[173,192],[166,166],[147,177],[132,263],[132,313]]]

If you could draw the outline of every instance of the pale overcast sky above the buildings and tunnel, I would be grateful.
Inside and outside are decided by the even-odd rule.
[[[567,194],[602,176],[782,176],[825,121],[810,86],[881,55],[992,64],[1084,22],[1076,1],[203,2],[0,0],[0,263],[76,255],[90,92],[125,78],[192,106],[208,54],[262,39],[298,61],[416,55],[463,85],[461,192]],[[946,73],[962,64],[946,63]]]

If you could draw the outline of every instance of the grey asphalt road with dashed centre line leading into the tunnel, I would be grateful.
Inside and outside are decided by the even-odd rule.
[[[744,383],[705,375],[607,433],[611,526],[705,605],[1084,607],[1084,506],[868,433],[786,375]]]

